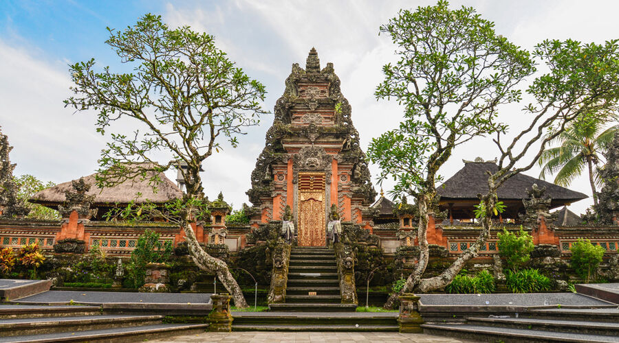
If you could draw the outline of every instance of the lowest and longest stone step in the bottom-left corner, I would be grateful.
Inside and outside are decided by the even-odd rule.
[[[143,342],[167,338],[175,335],[193,335],[204,333],[208,324],[155,324],[142,327],[122,327],[88,331],[67,331],[63,333],[43,333],[39,335],[23,335],[2,337],[4,342]]]

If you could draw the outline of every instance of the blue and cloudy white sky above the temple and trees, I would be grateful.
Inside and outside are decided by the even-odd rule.
[[[382,81],[382,65],[393,61],[389,37],[379,35],[381,24],[400,9],[435,1],[364,0],[230,0],[230,1],[0,1],[0,126],[14,147],[15,175],[32,174],[44,181],[66,182],[92,174],[107,137],[95,131],[95,113],[65,108],[69,96],[68,64],[95,58],[99,66],[120,70],[118,56],[105,45],[106,27],[124,29],[146,13],[159,14],[171,27],[190,25],[212,34],[219,49],[260,80],[268,91],[263,108],[270,110],[284,90],[293,63],[305,66],[316,47],[321,67],[333,62],[341,88],[352,106],[352,119],[361,145],[395,128],[402,108],[373,96]],[[472,6],[495,22],[498,34],[532,49],[547,38],[572,38],[602,43],[619,38],[617,1],[451,1],[453,8]],[[511,132],[525,125],[524,104],[501,108]],[[204,188],[213,199],[219,191],[236,209],[248,203],[250,174],[264,146],[272,114],[239,139],[237,149],[224,150],[206,160]],[[455,150],[440,174],[452,176],[462,160],[497,156],[487,138],[475,139]],[[378,169],[371,166],[376,185]],[[539,168],[525,174],[537,176]],[[170,174],[173,178],[174,173]],[[384,183],[387,191],[391,184]],[[583,174],[569,187],[591,195]],[[380,189],[376,185],[376,189]],[[570,206],[583,213],[591,198]]]

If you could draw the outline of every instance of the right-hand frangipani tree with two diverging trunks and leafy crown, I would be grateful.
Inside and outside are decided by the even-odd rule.
[[[614,41],[583,45],[573,40],[546,40],[531,54],[496,34],[494,24],[473,8],[450,10],[446,1],[415,12],[402,10],[380,29],[391,36],[400,60],[384,66],[376,97],[394,97],[405,113],[399,128],[371,141],[368,155],[381,169],[379,180],[393,177],[393,193],[413,196],[419,208],[420,259],[400,294],[428,292],[448,285],[464,263],[477,256],[492,215],[501,208],[496,190],[503,182],[530,169],[545,143],[574,118],[616,105],[619,54]],[[497,117],[499,106],[521,100],[522,84],[536,71],[534,59],[550,71],[527,88],[534,103],[520,115],[530,125],[510,134],[507,123]],[[442,274],[422,279],[428,263],[428,218],[437,210],[439,169],[455,147],[487,135],[495,137],[499,170],[488,175],[489,191],[480,195],[479,237]]]

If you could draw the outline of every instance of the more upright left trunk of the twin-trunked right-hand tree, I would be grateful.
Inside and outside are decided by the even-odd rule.
[[[430,259],[430,252],[428,249],[428,222],[429,222],[429,213],[428,213],[428,204],[429,204],[428,196],[422,195],[418,198],[417,204],[419,207],[419,225],[417,228],[417,241],[419,242],[419,261],[417,261],[417,267],[415,271],[409,275],[406,279],[406,283],[404,283],[404,287],[400,289],[400,292],[391,294],[387,299],[387,303],[384,304],[384,308],[392,309],[398,300],[398,296],[406,292],[412,292],[415,287],[420,283],[421,277],[426,271],[426,267],[428,266],[428,259]]]

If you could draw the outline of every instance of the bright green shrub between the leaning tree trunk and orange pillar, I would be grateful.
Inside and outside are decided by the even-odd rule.
[[[506,265],[512,271],[521,268],[531,258],[533,251],[533,236],[523,230],[522,226],[518,233],[511,233],[503,228],[503,233],[498,233],[499,254],[505,257]]]

